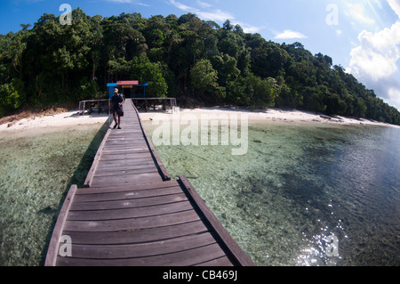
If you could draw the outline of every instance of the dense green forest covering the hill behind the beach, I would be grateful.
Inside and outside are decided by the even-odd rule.
[[[179,101],[316,110],[400,125],[400,113],[332,58],[279,45],[188,13],[110,18],[73,11],[72,25],[44,14],[0,35],[0,116],[26,105],[105,97],[106,84],[148,82],[149,96]]]

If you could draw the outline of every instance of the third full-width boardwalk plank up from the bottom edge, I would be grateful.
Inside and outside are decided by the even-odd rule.
[[[76,245],[119,245],[173,239],[193,234],[204,233],[208,229],[203,221],[180,223],[135,231],[64,231]]]

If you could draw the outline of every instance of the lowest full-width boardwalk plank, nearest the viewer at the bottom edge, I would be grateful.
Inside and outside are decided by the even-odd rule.
[[[65,266],[191,266],[225,256],[218,244],[197,247],[177,253],[139,258],[88,259],[58,257],[57,264]]]

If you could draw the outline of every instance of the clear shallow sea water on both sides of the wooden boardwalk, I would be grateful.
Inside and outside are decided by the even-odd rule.
[[[157,126],[144,126],[151,138]],[[106,130],[0,136],[0,265],[44,263],[69,186],[83,185]],[[399,139],[391,127],[251,123],[244,156],[231,146],[156,150],[258,265],[399,265]],[[339,256],[327,256],[332,235]]]

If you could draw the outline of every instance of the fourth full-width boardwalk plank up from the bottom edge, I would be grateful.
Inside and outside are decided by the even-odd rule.
[[[199,220],[195,210],[143,218],[107,221],[67,221],[67,231],[127,231],[163,227]]]

